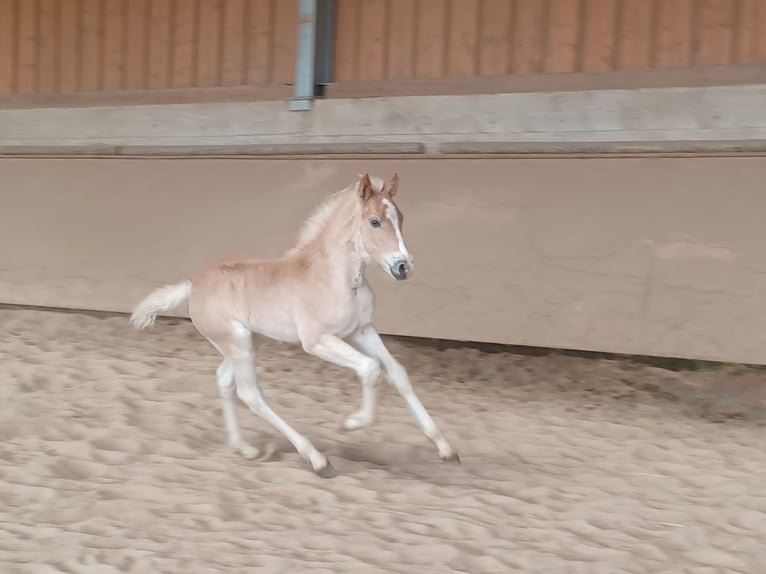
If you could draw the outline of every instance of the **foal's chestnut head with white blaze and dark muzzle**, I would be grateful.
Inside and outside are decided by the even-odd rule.
[[[375,187],[370,176],[364,174],[357,194],[362,207],[360,223],[365,250],[394,279],[402,281],[412,275],[415,261],[404,244],[404,216],[394,203],[398,187],[398,174]]]

